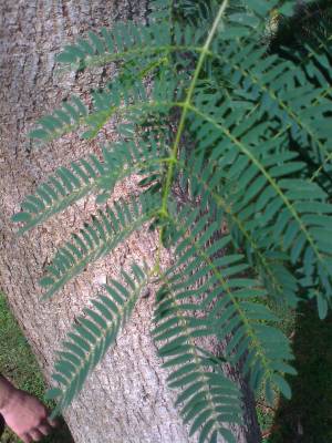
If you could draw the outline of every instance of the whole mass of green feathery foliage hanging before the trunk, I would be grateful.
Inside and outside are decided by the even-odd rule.
[[[92,92],[91,110],[72,97],[39,121],[33,138],[81,127],[91,138],[114,116],[128,123],[101,157],[60,167],[27,196],[13,217],[20,231],[89,193],[105,203],[134,173],[142,193],[73,234],[46,266],[44,297],[146,223],[159,244],[145,277],[137,266],[123,270],[69,333],[50,392],[55,413],[82,389],[151,278],[159,280],[154,338],[190,434],[234,441],[241,399],[226,362],[271,402],[276,389],[291,396],[290,343],[267,306],[315,299],[324,318],[332,296],[331,39],[320,29],[302,45],[277,43],[279,27],[298,18],[292,3],[153,1],[147,25],[90,32],[59,55],[65,69],[112,63],[117,74]],[[174,250],[169,269],[163,247]],[[227,342],[222,356],[206,349],[216,340]]]

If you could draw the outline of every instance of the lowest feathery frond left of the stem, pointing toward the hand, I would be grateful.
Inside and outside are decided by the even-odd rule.
[[[131,318],[139,293],[147,284],[147,276],[142,268],[133,265],[132,271],[134,279],[123,272],[124,284],[112,280],[104,286],[105,295],[92,300],[92,309],[84,309],[63,341],[52,374],[58,387],[46,394],[48,399],[58,401],[53,418],[80,393],[89,373],[114,344],[120,330]]]

